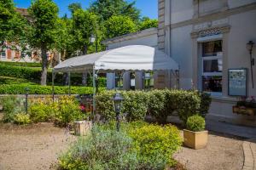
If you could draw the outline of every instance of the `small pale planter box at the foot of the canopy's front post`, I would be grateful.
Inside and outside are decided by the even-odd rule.
[[[84,136],[90,133],[92,122],[90,121],[77,121],[74,122],[75,135]]]

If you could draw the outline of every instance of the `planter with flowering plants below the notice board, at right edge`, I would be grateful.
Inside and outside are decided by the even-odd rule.
[[[236,105],[233,106],[233,113],[256,116],[256,100],[252,96],[251,98],[241,98],[237,101]]]

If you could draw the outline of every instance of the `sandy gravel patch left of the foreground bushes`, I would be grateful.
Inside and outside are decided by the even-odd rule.
[[[49,169],[75,139],[51,123],[27,127],[0,124],[0,170]]]

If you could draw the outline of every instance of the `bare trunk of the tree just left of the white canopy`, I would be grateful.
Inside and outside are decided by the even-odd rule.
[[[46,86],[47,81],[47,48],[45,45],[41,47],[41,57],[42,57],[42,75],[41,75],[41,85]]]

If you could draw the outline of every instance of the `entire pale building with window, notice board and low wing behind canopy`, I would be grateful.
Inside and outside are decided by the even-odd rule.
[[[247,42],[256,43],[256,0],[158,0],[158,4],[157,47],[180,65],[180,88],[197,88],[212,95],[208,119],[256,127],[256,116],[232,111],[240,98],[236,95],[256,96],[256,65],[252,66],[252,81],[247,49]],[[113,38],[106,44],[108,48],[154,46],[148,42],[154,42],[155,34],[145,41],[141,35],[137,32]],[[256,59],[256,44],[252,57]],[[234,71],[239,72],[236,77]],[[160,77],[165,77],[164,81]],[[167,73],[154,76],[154,88],[175,84],[168,77]],[[129,77],[124,78],[129,82]],[[137,77],[137,88],[142,87],[142,78]],[[112,84],[108,88],[114,88],[113,75],[108,81]],[[125,81],[124,88],[129,89]]]

